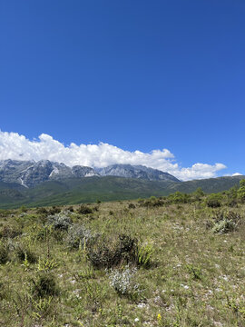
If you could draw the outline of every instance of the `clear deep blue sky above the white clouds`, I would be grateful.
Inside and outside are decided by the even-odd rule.
[[[243,0],[2,0],[0,129],[245,173],[244,17]]]

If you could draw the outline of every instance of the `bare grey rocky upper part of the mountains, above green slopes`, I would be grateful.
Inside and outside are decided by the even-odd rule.
[[[49,160],[0,161],[0,181],[5,183],[19,183],[25,187],[34,187],[45,181],[61,181],[65,178],[83,178],[91,176],[120,176],[126,178],[139,178],[148,181],[180,182],[170,173],[163,173],[157,169],[142,165],[113,164],[106,168],[75,165],[72,168],[64,163],[54,163]]]

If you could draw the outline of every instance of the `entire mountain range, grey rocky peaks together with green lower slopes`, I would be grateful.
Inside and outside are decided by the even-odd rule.
[[[170,173],[142,165],[68,167],[48,160],[0,161],[0,208],[130,200],[180,191],[218,193],[239,185],[244,176],[181,182]]]

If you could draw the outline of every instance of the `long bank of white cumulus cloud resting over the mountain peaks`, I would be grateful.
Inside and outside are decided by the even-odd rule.
[[[112,144],[70,144],[65,146],[48,134],[41,134],[38,139],[29,140],[24,135],[0,131],[0,160],[47,159],[66,165],[75,164],[90,167],[105,167],[113,163],[142,164],[171,173],[182,181],[215,177],[216,173],[226,168],[223,163],[194,163],[191,167],[181,167],[174,160],[174,155],[167,149],[125,151]]]

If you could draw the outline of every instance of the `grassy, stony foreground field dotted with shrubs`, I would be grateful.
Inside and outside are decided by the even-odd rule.
[[[245,326],[244,204],[68,209],[1,211],[0,326]]]

